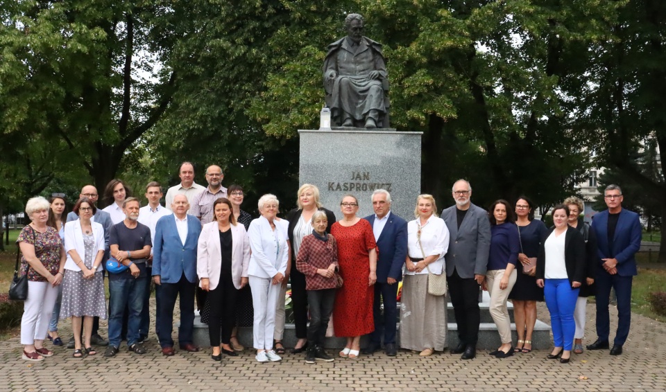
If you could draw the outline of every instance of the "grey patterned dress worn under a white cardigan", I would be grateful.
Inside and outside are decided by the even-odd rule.
[[[94,253],[94,235],[83,234],[83,246],[85,247],[83,264],[91,269],[97,256]],[[65,270],[65,278],[62,279],[60,319],[72,316],[97,316],[106,319],[103,271],[96,271],[92,279],[84,279],[83,271]]]

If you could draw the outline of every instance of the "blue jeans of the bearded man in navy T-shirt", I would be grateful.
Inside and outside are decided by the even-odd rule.
[[[115,348],[120,347],[125,308],[129,309],[127,345],[132,346],[139,339],[146,285],[148,285],[148,276],[109,280],[109,344]]]

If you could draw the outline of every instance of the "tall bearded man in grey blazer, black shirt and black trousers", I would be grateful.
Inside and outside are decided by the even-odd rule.
[[[446,280],[459,338],[458,346],[452,348],[451,353],[462,353],[461,359],[472,359],[476,356],[479,339],[479,285],[486,278],[490,221],[486,210],[472,204],[472,186],[468,181],[456,181],[452,195],[456,204],[442,211],[450,233],[445,256]]]

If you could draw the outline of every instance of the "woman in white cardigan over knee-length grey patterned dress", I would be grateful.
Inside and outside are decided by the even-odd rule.
[[[74,206],[80,219],[65,224],[65,278],[62,280],[60,319],[71,317],[74,332],[74,357],[83,357],[81,350],[81,318],[83,317],[84,350],[95,355],[90,346],[92,319],[106,319],[104,274],[100,265],[104,256],[104,228],[92,221],[97,208],[83,197]]]

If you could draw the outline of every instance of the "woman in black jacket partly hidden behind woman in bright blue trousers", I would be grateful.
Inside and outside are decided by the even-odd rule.
[[[578,229],[585,240],[586,251],[586,280],[581,285],[574,310],[574,321],[576,322],[576,333],[574,335],[574,354],[583,353],[583,335],[585,334],[585,311],[588,303],[588,296],[595,295],[595,269],[597,267],[597,235],[590,229],[590,225],[583,222],[580,218],[581,213],[585,211],[583,201],[578,197],[567,197],[564,204],[569,207],[569,226]]]

